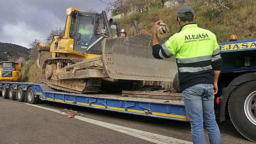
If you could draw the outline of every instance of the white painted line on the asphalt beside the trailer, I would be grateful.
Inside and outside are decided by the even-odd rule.
[[[46,110],[53,111],[53,112],[56,112],[56,113],[61,113],[61,112],[59,112],[55,109],[50,109],[50,108],[46,108],[46,107],[43,107],[43,106],[38,106],[38,105],[34,105],[34,104],[27,104],[27,105],[35,106],[35,107],[38,107],[38,108],[41,108],[41,109],[46,109]],[[61,114],[64,114],[64,113],[61,113]],[[185,140],[181,140],[181,139],[178,139],[178,138],[172,138],[172,137],[169,137],[169,136],[154,134],[154,133],[147,132],[147,131],[141,131],[141,130],[138,130],[138,129],[132,129],[132,128],[123,127],[123,126],[120,126],[120,125],[114,125],[114,124],[111,124],[111,123],[102,122],[102,121],[99,121],[99,120],[93,120],[93,119],[90,119],[90,118],[85,118],[85,117],[81,117],[81,116],[77,116],[77,115],[74,118],[78,119],[78,120],[85,121],[85,122],[89,122],[91,124],[106,127],[108,129],[119,131],[121,133],[128,134],[130,136],[141,138],[143,140],[150,141],[152,143],[159,143],[159,144],[169,144],[169,143],[177,143],[177,144],[183,144],[183,143],[187,144],[187,143],[189,143],[189,144],[191,144],[192,143],[190,141],[185,141]]]

